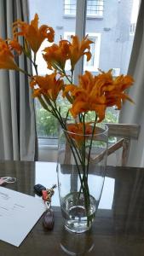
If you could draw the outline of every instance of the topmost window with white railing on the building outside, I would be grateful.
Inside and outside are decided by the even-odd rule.
[[[64,14],[76,15],[76,0],[64,0]],[[87,16],[96,17],[103,15],[103,0],[88,0],[87,1]]]

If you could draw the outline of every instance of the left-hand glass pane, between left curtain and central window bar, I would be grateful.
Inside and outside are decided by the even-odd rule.
[[[39,16],[39,26],[42,24],[52,26],[55,30],[55,43],[64,38],[65,32],[75,32],[76,19],[75,17],[67,19],[64,17],[67,14],[74,14],[76,11],[76,0],[29,0],[30,20],[33,19],[37,13]],[[47,69],[46,62],[43,61],[42,50],[50,44],[45,40],[37,53],[38,75],[45,75],[50,73]],[[68,104],[62,97],[59,99],[61,113],[64,115]],[[37,117],[37,136],[38,137],[57,137],[58,123],[57,120],[46,110],[44,110],[40,103],[35,100],[36,117]],[[51,143],[54,141],[51,140]]]

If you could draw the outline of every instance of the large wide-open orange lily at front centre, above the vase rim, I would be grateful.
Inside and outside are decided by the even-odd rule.
[[[79,76],[79,84],[66,85],[64,96],[67,92],[71,92],[73,96],[72,108],[70,112],[73,118],[78,116],[78,113],[86,113],[89,110],[95,111],[99,116],[99,121],[104,119],[106,110],[106,97],[99,95],[99,90],[95,86],[96,79],[88,71],[84,75]]]

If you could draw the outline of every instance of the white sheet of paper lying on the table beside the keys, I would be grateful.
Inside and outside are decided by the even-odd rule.
[[[19,247],[44,211],[42,200],[0,187],[0,240]]]

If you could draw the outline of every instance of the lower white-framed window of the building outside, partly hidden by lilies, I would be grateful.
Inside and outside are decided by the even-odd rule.
[[[84,70],[91,72],[97,72],[99,68],[99,57],[100,57],[100,46],[101,46],[101,34],[100,33],[87,33],[89,39],[94,42],[90,44],[90,52],[92,54],[91,59],[86,61],[84,56]],[[64,32],[64,38],[71,41],[71,35],[74,35],[74,32]],[[70,63],[67,61],[66,70],[71,68]]]

